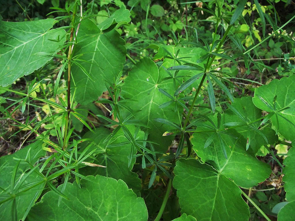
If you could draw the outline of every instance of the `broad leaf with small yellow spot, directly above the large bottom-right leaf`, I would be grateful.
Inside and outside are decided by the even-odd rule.
[[[215,125],[217,125],[217,114],[209,117]],[[224,123],[224,115],[222,115],[221,125]],[[207,125],[211,125],[208,123]],[[223,149],[220,144],[218,135],[213,138],[212,143],[204,148],[204,144],[208,137],[215,132],[205,132],[208,128],[198,127],[204,132],[193,133],[191,143],[194,145],[194,151],[203,162],[208,162],[214,166],[219,173],[225,177],[232,179],[238,186],[253,187],[263,182],[271,174],[268,164],[259,161],[251,149],[246,151],[245,139],[241,137],[233,129],[225,130],[226,133],[220,133],[219,136],[225,145],[227,159],[224,157]],[[219,130],[223,127],[220,126]],[[239,171],[237,173],[237,171]]]

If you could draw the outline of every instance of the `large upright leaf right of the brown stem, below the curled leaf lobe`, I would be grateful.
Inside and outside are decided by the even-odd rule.
[[[103,33],[90,19],[81,22],[77,36],[77,61],[94,80],[91,80],[77,65],[72,67],[76,82],[76,101],[91,103],[106,90],[105,80],[113,81],[123,69],[125,62],[125,42],[116,30]],[[73,85],[73,84],[72,84]]]

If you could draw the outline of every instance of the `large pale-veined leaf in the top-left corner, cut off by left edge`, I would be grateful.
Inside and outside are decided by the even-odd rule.
[[[52,29],[57,21],[43,19],[30,22],[0,21],[0,85],[5,87],[17,78],[31,74],[53,57],[36,54],[60,49],[65,30]],[[53,41],[50,41],[53,40]]]

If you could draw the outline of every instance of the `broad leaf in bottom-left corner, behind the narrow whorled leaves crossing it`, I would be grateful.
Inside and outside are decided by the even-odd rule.
[[[26,146],[25,148],[15,152],[14,154],[2,156],[0,158],[0,176],[1,176],[0,187],[1,188],[6,189],[9,193],[11,193],[10,191],[11,191],[12,174],[13,174],[15,166],[18,163],[18,160],[13,158],[26,160],[26,162],[34,165],[41,156],[45,155],[45,151],[42,150],[41,144],[42,142],[36,141],[35,143],[30,144],[29,146]],[[30,183],[43,180],[43,177],[39,177],[34,173],[30,174],[26,179],[24,179],[28,170],[30,169],[30,165],[28,163],[22,162],[19,164],[17,168],[14,185],[17,185],[17,183],[20,183],[20,182],[23,182],[22,186],[24,184],[29,185]],[[16,209],[17,211],[17,220],[22,219],[25,211],[27,210],[27,207],[30,205],[30,202],[32,200],[33,201],[37,200],[37,198],[40,196],[41,191],[44,188],[44,185],[45,185],[45,182],[39,184],[36,187],[33,187],[32,189],[30,189],[28,193],[15,197],[17,208],[12,207],[12,201],[14,198],[1,204],[0,220],[12,220],[12,216],[11,216],[12,208]],[[19,188],[18,190],[14,192],[14,194],[23,192],[28,187],[30,187],[30,185],[25,188]],[[35,195],[36,193],[37,195]],[[10,194],[2,190],[0,191],[0,201],[7,199],[9,197],[10,197]]]

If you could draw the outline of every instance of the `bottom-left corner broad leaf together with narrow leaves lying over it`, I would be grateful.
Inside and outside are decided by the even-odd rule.
[[[1,220],[12,220],[14,212],[16,212],[17,220],[21,220],[27,207],[30,209],[40,196],[45,186],[42,182],[44,176],[41,173],[36,175],[29,171],[34,168],[40,157],[45,156],[45,151],[40,147],[41,144],[42,142],[36,141],[13,155],[0,158],[0,200],[3,202],[8,199],[0,205]],[[36,182],[40,183],[35,185]],[[30,191],[24,192],[27,189]]]

